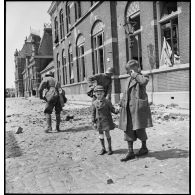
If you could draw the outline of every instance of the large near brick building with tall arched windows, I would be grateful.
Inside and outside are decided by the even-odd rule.
[[[150,101],[188,107],[190,2],[53,1],[48,13],[55,77],[72,100],[90,101],[87,77],[113,67],[117,103],[128,77],[124,65],[136,59],[150,75]]]

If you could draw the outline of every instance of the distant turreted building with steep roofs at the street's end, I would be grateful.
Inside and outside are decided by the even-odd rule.
[[[52,30],[50,25],[45,24],[42,38],[31,31],[22,50],[15,52],[16,95],[38,96],[40,72],[52,60]]]

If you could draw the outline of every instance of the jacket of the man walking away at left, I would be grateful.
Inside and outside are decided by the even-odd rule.
[[[61,87],[60,83],[56,81],[53,77],[44,77],[40,86],[39,86],[39,93],[40,97],[42,97],[42,93],[44,89],[47,89],[48,94],[53,94],[53,91],[58,93],[58,89]],[[58,93],[59,94],[59,93]]]

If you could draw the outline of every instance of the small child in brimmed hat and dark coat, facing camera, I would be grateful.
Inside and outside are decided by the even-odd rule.
[[[94,89],[94,93],[97,99],[92,103],[92,123],[94,128],[99,131],[99,138],[102,146],[100,155],[107,152],[104,144],[104,132],[108,141],[108,155],[111,155],[113,152],[110,130],[115,128],[111,113],[118,114],[119,110],[115,109],[112,103],[105,98],[103,86],[97,85]]]

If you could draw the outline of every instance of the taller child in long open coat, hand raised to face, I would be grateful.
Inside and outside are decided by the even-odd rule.
[[[121,161],[135,158],[133,142],[137,138],[142,141],[142,147],[137,155],[148,153],[146,147],[148,138],[145,128],[153,126],[146,93],[149,78],[140,73],[139,64],[136,60],[130,60],[125,68],[130,77],[127,80],[126,90],[120,101],[119,129],[124,131],[124,140],[128,143],[128,153]]]

